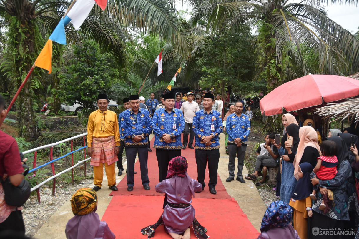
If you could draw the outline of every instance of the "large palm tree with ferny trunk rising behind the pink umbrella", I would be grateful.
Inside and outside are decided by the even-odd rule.
[[[313,60],[318,62],[318,73],[355,72],[359,67],[359,41],[317,7],[325,1],[288,1],[189,0],[194,9],[191,22],[196,25],[204,19],[211,31],[244,22],[257,25],[261,51],[258,76],[267,80],[269,89],[280,85],[288,76],[308,74],[308,61]],[[357,2],[331,1],[332,4]],[[300,71],[288,72],[290,61]]]

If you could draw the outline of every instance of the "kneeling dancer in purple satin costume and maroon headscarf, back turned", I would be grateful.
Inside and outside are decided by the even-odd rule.
[[[197,238],[209,238],[207,229],[199,224],[192,207],[192,196],[202,191],[202,185],[187,174],[188,163],[185,157],[171,159],[165,180],[156,185],[156,191],[166,193],[164,210],[156,224],[141,230],[148,238],[154,237],[156,228],[164,224],[164,230],[174,239],[189,239],[190,225]]]

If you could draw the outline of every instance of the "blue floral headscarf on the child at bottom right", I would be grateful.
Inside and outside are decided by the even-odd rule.
[[[261,225],[261,232],[272,228],[285,228],[292,221],[293,209],[288,203],[283,201],[274,201],[264,213]]]

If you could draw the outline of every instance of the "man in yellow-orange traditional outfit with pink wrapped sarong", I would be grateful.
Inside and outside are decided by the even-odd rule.
[[[97,96],[98,110],[90,114],[87,123],[87,154],[93,165],[94,191],[101,189],[103,178],[103,164],[105,165],[108,186],[117,191],[115,162],[120,153],[120,131],[117,115],[107,109],[108,97],[106,94]]]

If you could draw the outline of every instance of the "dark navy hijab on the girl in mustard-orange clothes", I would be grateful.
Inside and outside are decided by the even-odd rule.
[[[313,171],[313,166],[310,163],[301,163],[299,164],[299,167],[302,169],[303,177],[299,178],[297,184],[295,185],[292,195],[294,200],[307,198],[313,191],[313,185],[311,182],[311,172]]]

